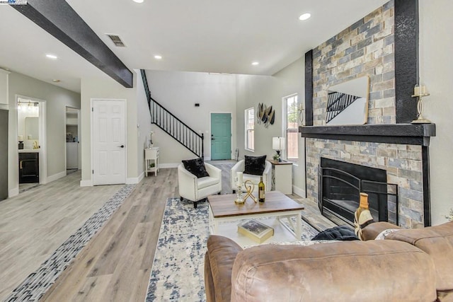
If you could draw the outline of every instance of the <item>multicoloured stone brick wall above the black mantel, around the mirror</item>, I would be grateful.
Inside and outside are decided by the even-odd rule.
[[[369,76],[368,124],[394,124],[394,0],[313,50],[313,125],[326,124],[328,87]]]

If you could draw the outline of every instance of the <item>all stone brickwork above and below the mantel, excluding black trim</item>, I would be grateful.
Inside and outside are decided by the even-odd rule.
[[[328,87],[365,75],[370,79],[368,124],[396,123],[394,70],[391,0],[314,49],[314,126],[325,125]],[[386,170],[387,182],[398,185],[398,223],[423,226],[421,146],[306,139],[306,194],[316,202],[321,156]]]

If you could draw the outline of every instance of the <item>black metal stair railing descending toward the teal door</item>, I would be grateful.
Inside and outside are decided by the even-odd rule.
[[[205,148],[203,141],[205,136],[203,134],[197,134],[194,129],[178,119],[173,113],[166,110],[166,108],[154,100],[154,98],[151,98],[147,74],[143,69],[141,69],[140,72],[142,74],[144,91],[147,95],[149,112],[151,113],[151,123],[156,124],[157,127],[164,130],[166,134],[173,137],[173,139],[176,139],[176,141],[185,146],[185,148],[189,149],[196,156],[204,158]]]

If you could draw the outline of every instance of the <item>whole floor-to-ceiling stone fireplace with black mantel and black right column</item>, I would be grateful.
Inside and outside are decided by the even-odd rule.
[[[367,124],[326,125],[330,86],[369,76]],[[435,124],[411,124],[418,79],[418,1],[389,1],[305,54],[306,197],[319,202],[322,158],[385,171],[394,219],[430,226],[429,143]],[[357,194],[358,200],[358,194]],[[321,203],[323,202],[321,197]],[[397,221],[396,221],[397,219]]]

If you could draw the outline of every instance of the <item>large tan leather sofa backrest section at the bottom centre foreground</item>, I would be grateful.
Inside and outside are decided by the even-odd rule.
[[[435,301],[435,269],[422,250],[391,240],[239,252],[231,301]]]

